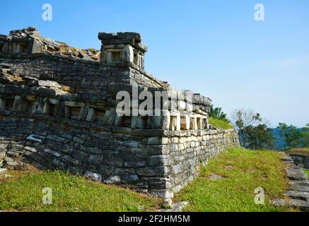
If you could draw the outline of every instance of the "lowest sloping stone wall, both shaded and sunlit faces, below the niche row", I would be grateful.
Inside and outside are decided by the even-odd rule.
[[[164,131],[8,113],[0,120],[0,164],[69,169],[91,179],[171,197],[199,174],[199,165],[231,146],[228,130]]]

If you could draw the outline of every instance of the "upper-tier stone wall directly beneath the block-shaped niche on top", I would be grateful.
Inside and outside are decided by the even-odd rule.
[[[73,93],[102,93],[111,83],[167,87],[145,71],[130,63],[100,63],[54,56],[52,54],[31,54],[23,57],[3,57],[0,54],[0,69],[6,67],[14,75],[30,76],[42,81],[56,81],[67,85]]]

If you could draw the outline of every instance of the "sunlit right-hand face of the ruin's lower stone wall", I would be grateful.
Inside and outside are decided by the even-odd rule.
[[[233,130],[168,131],[170,184],[178,192],[199,175],[199,166],[231,147],[239,147]]]

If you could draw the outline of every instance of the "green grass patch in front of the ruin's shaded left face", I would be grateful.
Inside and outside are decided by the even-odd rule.
[[[10,172],[0,182],[0,210],[11,211],[140,211],[152,210],[158,198],[129,189],[91,182],[61,171]],[[42,204],[42,189],[52,189],[52,205]]]

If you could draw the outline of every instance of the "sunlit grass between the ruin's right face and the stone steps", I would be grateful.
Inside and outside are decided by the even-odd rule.
[[[287,191],[282,153],[233,148],[211,159],[202,167],[201,176],[177,194],[178,201],[189,201],[185,211],[292,211],[272,206],[275,198]],[[209,179],[216,174],[223,179]],[[262,187],[264,205],[255,204],[255,189]]]

